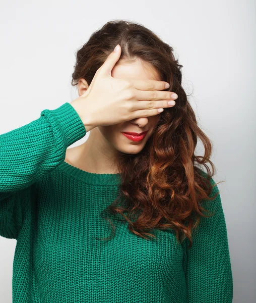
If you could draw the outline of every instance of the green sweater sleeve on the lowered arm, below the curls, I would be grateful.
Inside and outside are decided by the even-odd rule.
[[[212,178],[211,184],[216,184]],[[214,186],[210,197],[218,191]],[[187,302],[231,303],[233,280],[220,194],[213,200],[203,200],[202,206],[214,215],[201,217],[192,236],[193,245],[187,248]]]

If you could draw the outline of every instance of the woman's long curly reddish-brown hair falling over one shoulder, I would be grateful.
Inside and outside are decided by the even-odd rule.
[[[145,239],[155,237],[149,233],[153,228],[171,228],[178,241],[187,238],[191,247],[191,231],[198,226],[201,216],[208,217],[203,214],[206,210],[201,201],[212,200],[219,192],[210,197],[217,185],[212,182],[215,174],[210,160],[212,143],[199,128],[181,86],[183,66],[174,58],[173,48],[140,23],[109,21],[93,32],[77,51],[72,85],[78,85],[80,78],[90,85],[97,69],[117,44],[121,45],[119,60],[141,59],[151,63],[162,80],[170,83],[167,90],[176,92],[178,98],[174,107],[161,113],[154,133],[140,153],[120,153],[117,163],[118,171],[122,172],[119,196],[101,213],[112,226],[111,235],[97,239],[108,240],[114,235],[115,226],[108,214],[127,221],[129,230]],[[204,145],[203,156],[195,155],[198,138]],[[202,170],[203,166],[207,173]]]

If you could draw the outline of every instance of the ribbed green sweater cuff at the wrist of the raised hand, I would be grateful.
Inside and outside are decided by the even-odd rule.
[[[66,102],[55,110],[50,110],[62,131],[67,147],[86,135],[85,126],[73,106]]]

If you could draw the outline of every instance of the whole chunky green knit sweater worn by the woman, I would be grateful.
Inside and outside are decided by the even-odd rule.
[[[110,241],[96,239],[110,235],[100,212],[117,197],[120,175],[64,161],[68,146],[85,134],[65,103],[0,135],[0,235],[17,240],[13,302],[232,302],[220,195],[207,207],[214,217],[202,218],[189,249],[172,230],[145,240],[118,220]]]

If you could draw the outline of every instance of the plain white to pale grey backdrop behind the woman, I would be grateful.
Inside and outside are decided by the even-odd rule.
[[[139,22],[174,47],[189,102],[214,144],[214,180],[226,180],[218,187],[234,303],[255,301],[255,11],[255,2],[248,0],[0,4],[0,133],[78,96],[71,86],[75,52],[107,21]],[[12,302],[15,246],[15,239],[0,238],[5,303]]]

